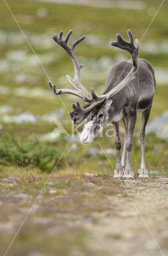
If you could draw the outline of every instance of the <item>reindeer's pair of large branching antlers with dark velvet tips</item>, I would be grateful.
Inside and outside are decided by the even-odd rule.
[[[56,85],[55,84],[52,85],[50,81],[49,81],[49,85],[52,91],[54,92],[54,94],[56,95],[69,93],[82,98],[86,102],[82,107],[80,106],[79,102],[77,102],[77,104],[74,104],[74,103],[72,104],[72,107],[74,110],[70,112],[70,118],[74,121],[74,124],[80,124],[80,122],[82,122],[96,106],[101,105],[105,100],[112,97],[114,94],[118,93],[124,86],[126,86],[126,84],[128,84],[128,82],[134,79],[134,74],[138,69],[139,41],[138,39],[136,39],[135,40],[136,46],[134,46],[134,38],[130,30],[127,31],[128,36],[130,38],[129,43],[123,40],[120,34],[116,35],[117,41],[111,42],[111,45],[130,52],[130,54],[132,55],[133,67],[130,70],[130,72],[127,74],[127,76],[122,80],[122,82],[120,82],[116,87],[110,90],[110,92],[107,92],[106,94],[103,94],[101,96],[97,96],[96,93],[94,92],[94,89],[92,88],[91,89],[92,98],[90,98],[89,92],[80,82],[80,68],[82,68],[84,65],[79,64],[78,58],[76,57],[74,52],[75,47],[80,42],[82,42],[86,38],[86,36],[82,36],[80,39],[76,40],[70,47],[68,45],[68,40],[70,39],[72,32],[73,30],[70,30],[64,40],[62,39],[63,31],[60,32],[59,36],[57,34],[54,34],[53,39],[57,44],[59,44],[60,46],[62,46],[62,48],[66,50],[66,52],[69,54],[70,58],[74,63],[74,70],[75,70],[74,79],[72,79],[68,75],[66,77],[68,78],[69,82],[76,89],[78,89],[78,91],[71,90],[71,89],[56,89]]]

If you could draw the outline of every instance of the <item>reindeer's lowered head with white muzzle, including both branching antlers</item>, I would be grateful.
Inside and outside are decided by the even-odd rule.
[[[62,39],[63,31],[60,32],[59,36],[54,34],[53,39],[56,43],[58,43],[62,48],[66,50],[66,52],[70,55],[74,63],[75,76],[72,79],[70,76],[66,76],[69,82],[76,88],[76,90],[71,89],[56,89],[56,85],[52,85],[49,81],[50,88],[54,92],[54,94],[59,95],[63,93],[69,93],[76,95],[82,98],[86,103],[81,107],[80,103],[77,101],[77,104],[72,104],[73,111],[70,112],[70,118],[73,120],[74,124],[80,124],[86,118],[86,124],[84,126],[83,132],[80,136],[80,141],[85,144],[89,144],[94,140],[94,138],[101,132],[104,126],[110,121],[110,107],[112,105],[113,96],[118,93],[128,82],[134,79],[134,74],[138,68],[138,49],[139,42],[138,39],[135,40],[136,46],[134,46],[134,39],[130,30],[127,31],[128,36],[130,38],[130,42],[126,42],[122,39],[120,34],[116,35],[117,41],[111,42],[112,46],[116,46],[118,48],[124,49],[132,55],[133,66],[127,76],[120,82],[117,86],[112,88],[106,94],[101,96],[97,96],[94,92],[94,89],[91,89],[91,96],[86,88],[80,82],[80,68],[84,65],[80,65],[78,62],[78,58],[74,53],[75,47],[82,42],[86,36],[76,40],[70,47],[68,45],[68,40],[72,34],[72,30],[70,30],[66,36],[66,38]]]

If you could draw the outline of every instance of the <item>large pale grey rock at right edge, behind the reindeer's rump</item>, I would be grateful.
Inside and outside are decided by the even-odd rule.
[[[152,122],[147,124],[146,133],[153,132],[157,137],[168,141],[168,111],[154,118]]]

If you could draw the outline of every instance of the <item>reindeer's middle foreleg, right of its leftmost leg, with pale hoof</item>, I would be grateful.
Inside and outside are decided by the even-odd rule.
[[[130,112],[128,121],[128,134],[126,138],[126,168],[124,170],[123,179],[134,179],[134,172],[131,167],[131,151],[132,151],[132,139],[134,136],[134,129],[136,124],[137,110]]]

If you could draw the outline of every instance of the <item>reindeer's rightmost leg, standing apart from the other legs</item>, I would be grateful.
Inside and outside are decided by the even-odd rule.
[[[152,104],[141,113],[141,128],[140,128],[140,146],[141,146],[141,165],[138,170],[139,178],[149,178],[148,171],[145,165],[145,128],[150,116]]]

